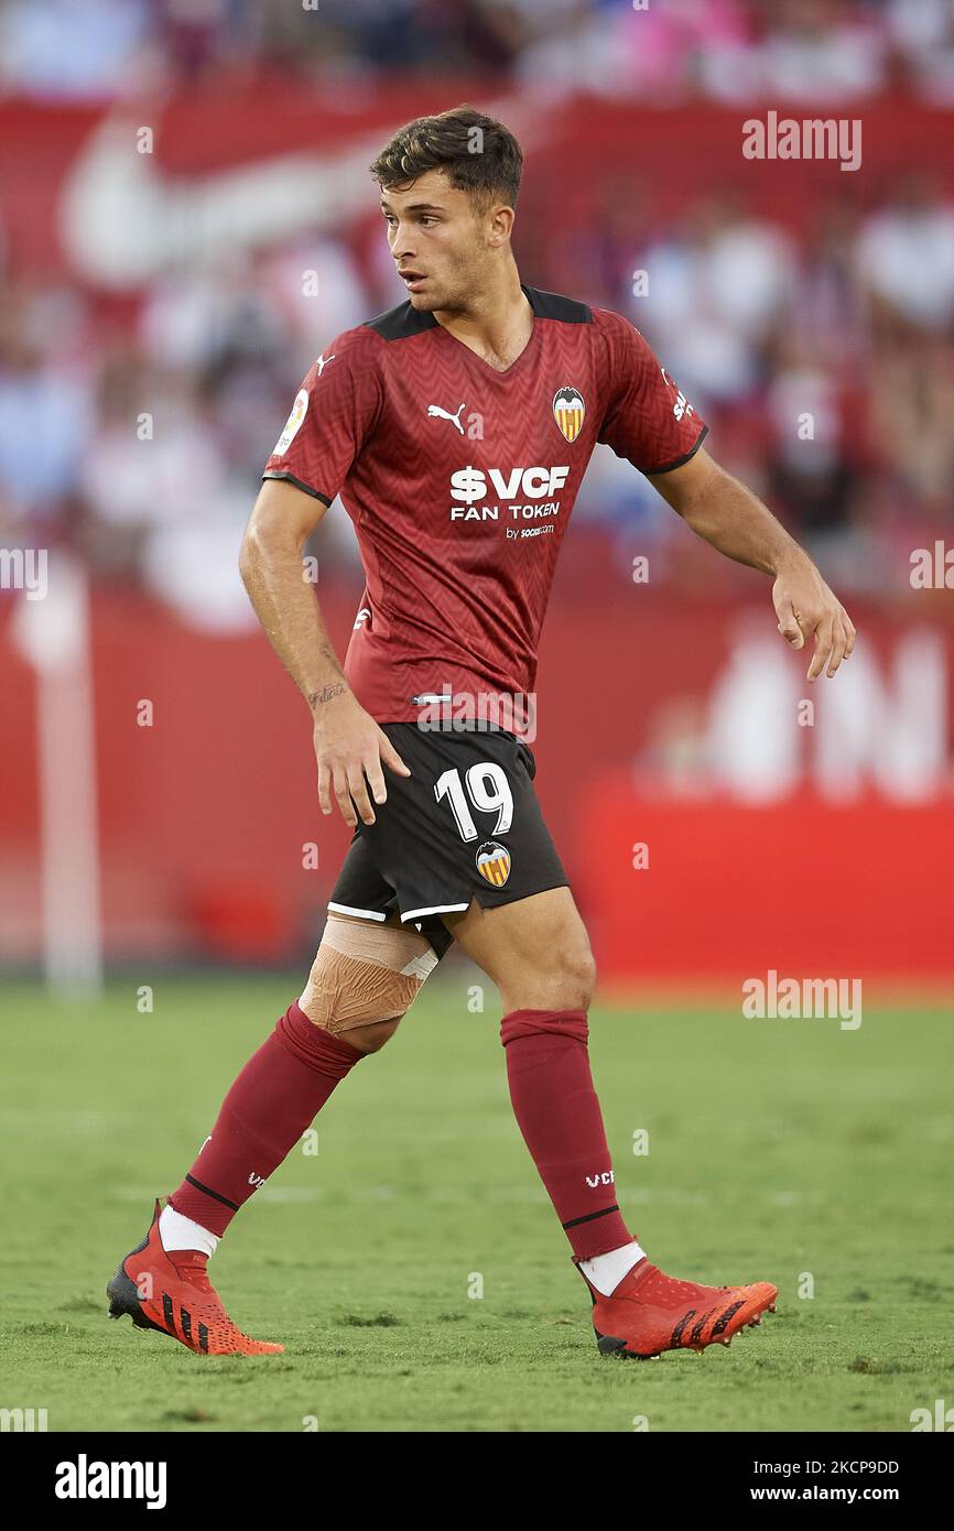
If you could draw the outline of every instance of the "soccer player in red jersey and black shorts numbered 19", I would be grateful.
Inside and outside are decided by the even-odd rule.
[[[521,735],[557,554],[597,441],[727,557],[770,576],[782,637],[835,675],[854,628],[619,314],[521,282],[522,155],[470,107],[375,159],[407,302],[337,335],[270,456],[242,576],[314,720],[319,799],[354,827],[303,992],[228,1090],[198,1159],[109,1283],[110,1314],[198,1352],[265,1353],[207,1260],[332,1090],[456,940],[499,987],[510,1098],[593,1301],[599,1349],[727,1344],[769,1281],[665,1275],[616,1202],[586,1052],[594,963]],[[302,550],[337,495],[366,576],[345,666]],[[502,718],[495,698],[511,700]],[[462,726],[469,724],[469,726]],[[372,1067],[368,1064],[368,1067]]]

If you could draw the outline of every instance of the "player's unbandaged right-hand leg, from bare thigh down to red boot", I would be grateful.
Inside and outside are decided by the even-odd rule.
[[[472,902],[444,923],[501,991],[510,1099],[590,1288],[600,1352],[703,1350],[758,1324],[775,1307],[775,1286],[678,1281],[623,1222],[586,1050],[596,965],[570,890],[493,908]]]

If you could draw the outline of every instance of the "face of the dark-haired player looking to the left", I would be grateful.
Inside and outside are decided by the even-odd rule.
[[[492,257],[493,205],[479,213],[443,170],[427,170],[407,191],[381,191],[387,243],[410,306],[466,311]]]

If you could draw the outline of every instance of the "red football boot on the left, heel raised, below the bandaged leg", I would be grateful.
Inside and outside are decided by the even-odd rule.
[[[205,1272],[205,1258],[176,1249],[181,1271],[159,1239],[159,1199],[149,1232],[126,1255],[106,1288],[109,1317],[129,1314],[138,1329],[158,1329],[198,1355],[280,1355],[283,1344],[251,1340],[222,1307]]]

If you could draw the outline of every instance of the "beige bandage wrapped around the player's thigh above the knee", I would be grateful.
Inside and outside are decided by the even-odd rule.
[[[438,965],[426,935],[329,914],[299,1004],[325,1030],[400,1020]]]

